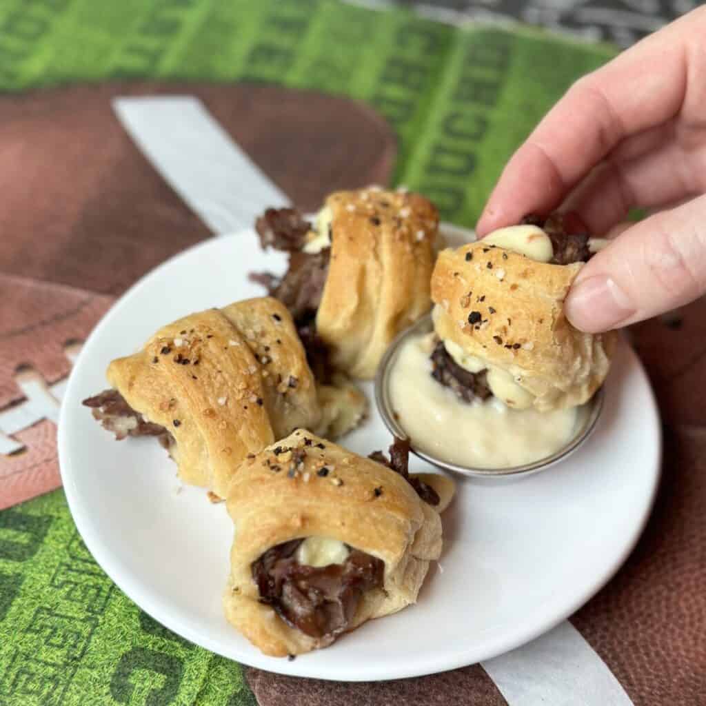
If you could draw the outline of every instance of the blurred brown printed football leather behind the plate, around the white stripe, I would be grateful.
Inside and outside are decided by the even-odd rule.
[[[109,83],[0,97],[0,268],[119,294],[210,235],[135,148],[111,100],[194,95],[292,201],[388,180],[395,137],[364,104],[261,84]],[[355,145],[351,149],[351,145]]]

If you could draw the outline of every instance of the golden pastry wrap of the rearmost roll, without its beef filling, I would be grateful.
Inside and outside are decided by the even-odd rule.
[[[431,308],[438,213],[417,193],[361,189],[326,200],[331,257],[316,330],[333,364],[373,378],[400,330]]]

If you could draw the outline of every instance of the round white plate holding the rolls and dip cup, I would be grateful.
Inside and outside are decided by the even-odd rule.
[[[107,313],[68,383],[59,424],[61,476],[88,549],[138,606],[191,642],[238,662],[299,676],[376,680],[430,674],[511,650],[572,614],[638,539],[659,476],[650,385],[622,345],[590,441],[566,462],[517,481],[458,479],[444,550],[419,602],[332,647],[264,657],[225,621],[221,593],[232,525],[224,505],[184,487],[152,439],[116,443],[80,405],[103,390],[108,362],[164,323],[257,296],[253,270],[285,268],[251,231],[206,241],[160,265]],[[371,402],[371,385],[366,385]],[[368,454],[390,437],[376,413],[345,439]],[[415,459],[413,469],[424,469]]]

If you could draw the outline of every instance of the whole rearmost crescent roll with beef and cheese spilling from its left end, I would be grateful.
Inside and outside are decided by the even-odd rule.
[[[431,308],[438,212],[424,196],[339,191],[313,224],[268,209],[256,229],[264,248],[289,252],[285,275],[256,279],[292,312],[317,378],[322,354],[334,369],[373,378],[395,335]]]

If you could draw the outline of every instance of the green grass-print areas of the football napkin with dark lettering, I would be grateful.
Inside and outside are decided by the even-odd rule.
[[[255,80],[369,102],[399,136],[395,182],[464,225],[546,109],[612,55],[333,0],[6,0],[0,27],[2,90]],[[61,491],[0,513],[0,705],[253,703],[239,664],[170,633],[102,573]]]

